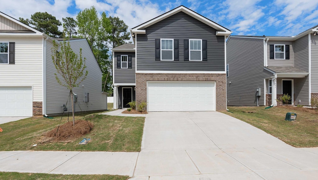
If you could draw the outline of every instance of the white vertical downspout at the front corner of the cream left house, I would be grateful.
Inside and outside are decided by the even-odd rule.
[[[42,39],[44,39],[42,37]],[[46,41],[49,39],[49,37],[46,37],[46,39],[44,40],[44,43],[43,43],[43,74],[42,74],[42,77],[43,77],[43,85],[42,85],[42,88],[43,88],[43,101],[42,101],[42,113],[44,114],[44,116],[48,117],[48,115],[46,114]]]

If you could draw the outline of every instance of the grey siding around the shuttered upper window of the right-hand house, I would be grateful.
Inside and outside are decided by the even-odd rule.
[[[289,45],[289,59],[270,59],[269,45]],[[271,41],[267,42],[267,66],[294,66],[294,41]]]

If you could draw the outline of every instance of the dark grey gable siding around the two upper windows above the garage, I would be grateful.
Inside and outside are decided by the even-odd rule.
[[[179,12],[136,36],[137,71],[225,71],[225,38],[201,21]],[[156,61],[155,39],[179,39],[179,61]],[[208,61],[184,61],[183,40],[207,40]]]

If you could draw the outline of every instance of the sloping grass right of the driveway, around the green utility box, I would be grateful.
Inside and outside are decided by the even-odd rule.
[[[294,147],[318,146],[318,114],[305,107],[228,107],[230,116],[245,121]],[[287,112],[297,114],[296,121],[286,121]]]

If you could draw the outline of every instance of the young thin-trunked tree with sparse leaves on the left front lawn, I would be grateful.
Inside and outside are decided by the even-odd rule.
[[[60,78],[55,73],[55,78],[59,85],[67,87],[70,90],[72,98],[72,113],[73,113],[73,126],[75,125],[74,116],[74,100],[73,88],[78,87],[79,84],[86,79],[88,71],[85,71],[86,63],[85,58],[82,58],[82,48],[79,49],[79,55],[73,52],[70,42],[64,40],[62,43],[56,43],[53,40],[52,60],[57,70],[57,73],[62,77]]]

